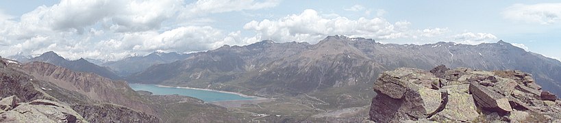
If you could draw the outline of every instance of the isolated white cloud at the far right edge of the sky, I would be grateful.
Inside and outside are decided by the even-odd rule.
[[[501,14],[510,20],[549,25],[561,21],[561,3],[514,4]]]

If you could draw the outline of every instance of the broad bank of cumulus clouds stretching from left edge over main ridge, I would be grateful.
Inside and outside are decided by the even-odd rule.
[[[255,32],[254,35],[208,25],[214,20],[207,14],[272,8],[279,2],[62,0],[52,6],[40,6],[19,16],[19,19],[0,12],[0,55],[40,55],[55,51],[69,59],[89,57],[116,60],[153,51],[189,53],[216,49],[224,44],[244,45],[265,39],[315,43],[326,36],[345,35],[392,42],[414,36],[450,36],[446,35],[449,33],[447,28],[410,29],[412,23],[407,20],[389,22],[382,18],[386,13],[384,10],[377,10],[375,18],[356,19],[303,10],[299,14],[245,23],[242,28]],[[360,5],[347,10],[370,11]],[[166,25],[168,22],[173,25]],[[497,39],[490,33],[471,32],[449,38],[466,44]]]

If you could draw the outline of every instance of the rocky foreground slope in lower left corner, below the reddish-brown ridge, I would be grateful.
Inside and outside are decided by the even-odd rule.
[[[55,82],[50,82],[49,79],[33,77],[32,75],[23,72],[25,70],[22,70],[22,66],[24,65],[14,61],[8,61],[8,59],[0,59],[0,97],[5,98],[9,96],[16,96],[19,98],[17,103],[29,104],[29,107],[25,106],[21,108],[40,111],[40,108],[43,107],[64,107],[62,109],[53,109],[51,113],[60,112],[64,114],[64,112],[66,112],[67,114],[70,114],[71,112],[76,112],[79,115],[82,115],[84,120],[92,122],[159,122],[159,119],[154,115],[129,109],[128,107],[112,105],[110,103],[94,100],[85,94],[80,94],[76,90],[66,90],[63,87],[59,87],[58,85],[55,85]],[[90,87],[95,87],[93,86],[94,83],[84,83],[84,85],[92,85]],[[90,91],[95,92],[95,89]],[[37,101],[41,102],[40,105],[35,105],[38,104],[36,103]],[[45,104],[53,105],[43,106]],[[18,115],[14,115],[16,113],[8,112],[10,111],[0,113],[0,115],[5,116],[6,118],[3,121],[32,122],[28,120],[11,119],[20,117],[18,117]],[[37,112],[34,114],[41,113]],[[78,115],[74,116],[79,118]],[[63,120],[60,115],[51,115],[47,118],[51,120],[53,120],[53,118],[55,120]]]

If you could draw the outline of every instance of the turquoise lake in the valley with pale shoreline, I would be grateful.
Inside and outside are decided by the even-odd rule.
[[[177,87],[160,87],[158,85],[152,84],[135,84],[129,83],[132,90],[144,90],[152,92],[154,95],[171,95],[179,94],[183,96],[191,96],[194,98],[199,98],[205,102],[221,101],[221,100],[252,100],[254,98],[244,97],[238,94],[230,94],[223,92],[215,92],[210,90],[195,90],[188,88],[177,88]]]

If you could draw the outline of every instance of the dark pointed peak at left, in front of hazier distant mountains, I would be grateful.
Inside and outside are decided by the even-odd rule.
[[[54,53],[53,51],[43,53],[38,57],[29,59],[29,61],[42,61],[49,64],[53,64],[55,66],[62,66],[64,68],[68,68],[70,70],[74,70],[78,72],[92,72],[95,74],[99,74],[101,77],[105,77],[109,79],[114,79],[114,80],[121,79],[121,77],[119,77],[117,74],[115,74],[108,68],[104,68],[92,64],[84,58],[80,58],[74,61],[68,61],[67,59],[64,59],[64,57],[60,57],[60,55]]]

